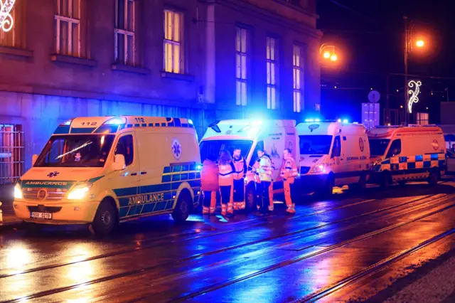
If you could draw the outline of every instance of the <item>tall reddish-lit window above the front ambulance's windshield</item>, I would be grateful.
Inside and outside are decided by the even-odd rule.
[[[80,57],[80,1],[57,0],[55,46],[60,55]]]

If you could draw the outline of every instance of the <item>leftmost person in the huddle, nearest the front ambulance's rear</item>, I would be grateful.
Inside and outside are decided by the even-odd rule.
[[[203,215],[215,213],[216,193],[219,188],[216,156],[209,155],[207,159],[204,160],[202,170],[200,171],[200,189],[203,191],[204,195],[202,207]]]

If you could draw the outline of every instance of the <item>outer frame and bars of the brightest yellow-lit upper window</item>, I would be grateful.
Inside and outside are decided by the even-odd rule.
[[[171,39],[166,37],[166,30],[168,28],[166,23],[166,12],[170,13],[173,16],[171,24]],[[178,41],[175,40],[175,16],[178,16]],[[175,9],[165,8],[163,10],[163,69],[166,73],[174,73],[174,74],[184,74],[185,73],[185,51],[184,51],[184,36],[185,36],[185,14],[183,11],[178,11]],[[166,56],[166,46],[171,46],[171,70],[168,70],[168,61]],[[176,70],[175,66],[175,58],[174,58],[174,46],[178,46],[178,70]]]

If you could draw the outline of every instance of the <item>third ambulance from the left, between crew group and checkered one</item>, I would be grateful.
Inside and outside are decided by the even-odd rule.
[[[370,172],[370,145],[363,124],[309,119],[297,125],[299,188],[329,196],[333,186],[364,188]]]

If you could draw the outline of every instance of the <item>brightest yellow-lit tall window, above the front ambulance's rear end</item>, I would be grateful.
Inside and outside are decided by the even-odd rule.
[[[183,73],[183,14],[164,11],[164,70]]]

